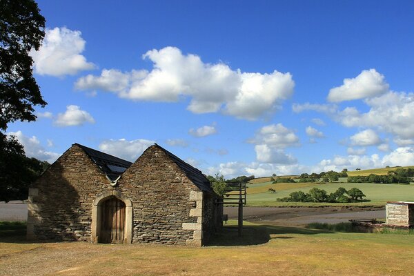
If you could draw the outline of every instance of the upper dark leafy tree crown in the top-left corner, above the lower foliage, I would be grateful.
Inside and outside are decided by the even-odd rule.
[[[0,1],[0,130],[12,121],[34,121],[45,106],[32,75],[30,50],[39,50],[45,19],[33,0]]]

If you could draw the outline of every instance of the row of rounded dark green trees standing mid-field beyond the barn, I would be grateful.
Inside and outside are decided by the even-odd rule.
[[[347,203],[362,201],[362,197],[366,197],[362,190],[351,188],[346,190],[339,187],[335,193],[326,193],[326,190],[312,188],[309,193],[302,190],[290,193],[288,197],[278,198],[277,201],[284,202],[331,202],[331,203]]]

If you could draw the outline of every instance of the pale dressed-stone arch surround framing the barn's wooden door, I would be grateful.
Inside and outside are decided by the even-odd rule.
[[[122,201],[122,204],[119,204],[121,208],[124,208],[124,233],[123,233],[123,241],[124,244],[131,244],[132,243],[132,201],[125,197],[120,192],[114,190],[111,192],[101,193],[97,196],[97,198],[93,201],[92,205],[92,226],[91,226],[91,239],[92,242],[98,243],[101,242],[101,238],[99,237],[101,234],[101,230],[103,228],[103,223],[105,221],[102,220],[103,216],[103,204],[108,202],[108,199],[118,199]],[[105,239],[103,239],[106,242]]]

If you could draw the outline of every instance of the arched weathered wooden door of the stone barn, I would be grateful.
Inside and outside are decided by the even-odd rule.
[[[103,244],[122,244],[124,242],[125,204],[111,197],[101,206],[101,233],[99,242]]]

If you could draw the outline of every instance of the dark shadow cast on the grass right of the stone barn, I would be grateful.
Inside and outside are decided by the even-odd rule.
[[[207,246],[251,246],[266,244],[270,239],[293,239],[289,234],[315,235],[332,233],[326,230],[316,230],[299,227],[248,224],[243,226],[242,237],[238,236],[237,225],[224,226],[223,229],[210,239]]]

